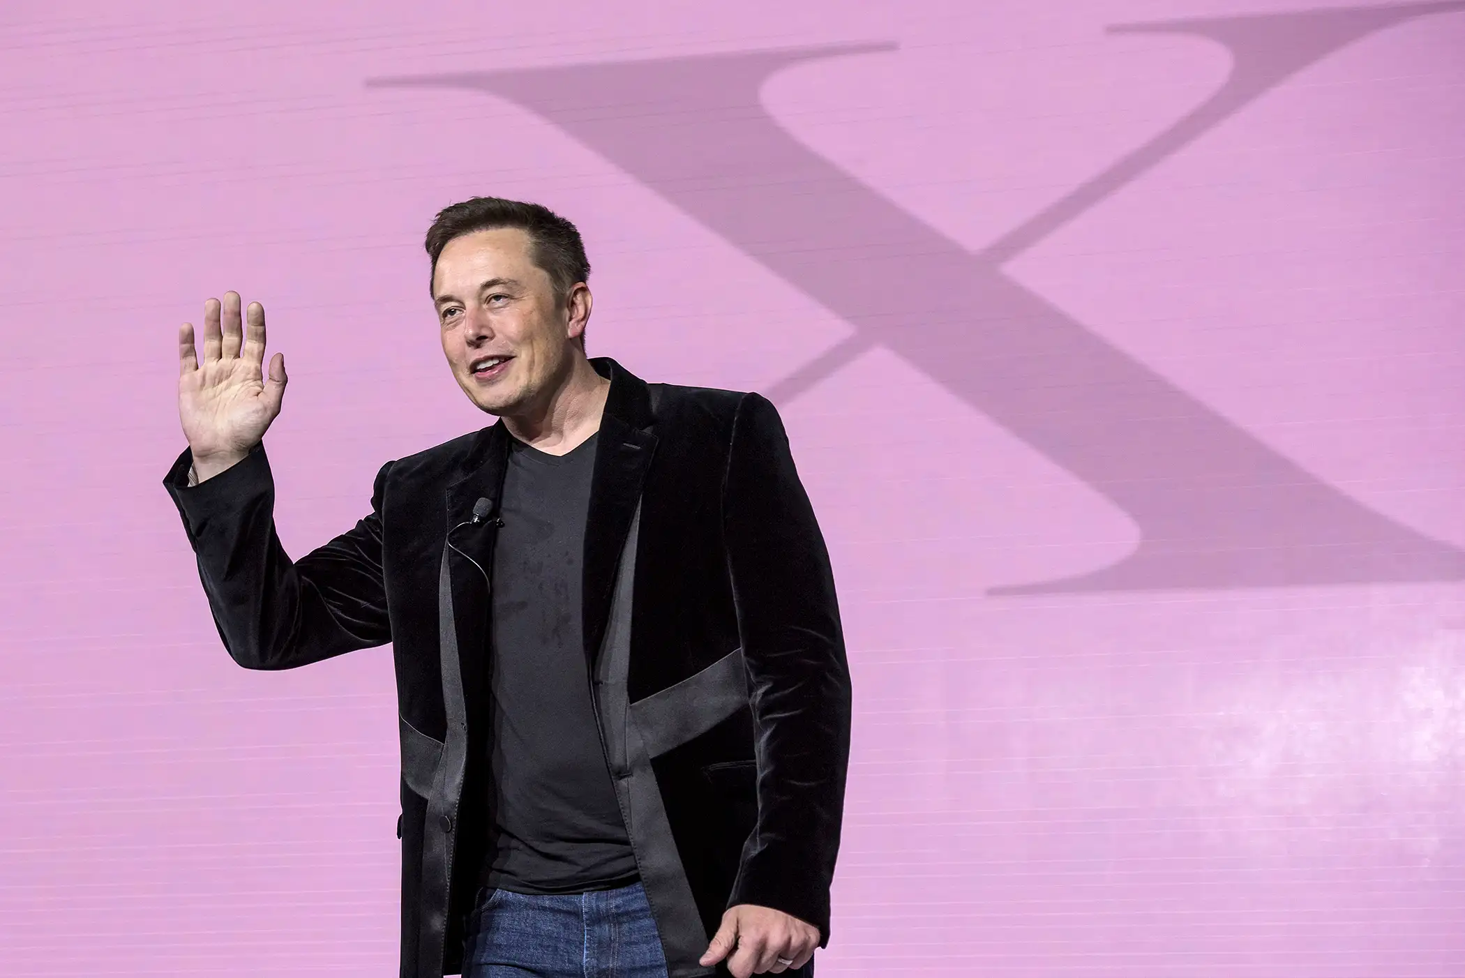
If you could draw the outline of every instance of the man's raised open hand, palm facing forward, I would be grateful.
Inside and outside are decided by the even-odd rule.
[[[204,303],[202,362],[193,346],[193,324],[179,328],[179,420],[199,482],[248,455],[280,414],[284,356],[277,353],[270,360],[268,378],[264,359],[265,307],[249,303],[246,329],[236,291],[226,291],[223,303]]]

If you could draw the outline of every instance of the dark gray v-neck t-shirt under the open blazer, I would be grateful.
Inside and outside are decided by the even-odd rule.
[[[605,764],[582,628],[592,435],[565,455],[511,442],[494,545],[488,665],[492,839],[483,881],[583,893],[637,878]]]

